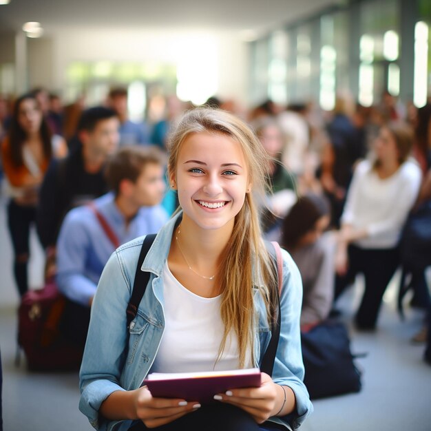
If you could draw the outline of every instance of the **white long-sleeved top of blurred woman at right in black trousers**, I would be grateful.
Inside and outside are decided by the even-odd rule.
[[[357,165],[347,194],[341,222],[368,230],[368,238],[355,242],[366,249],[390,249],[397,245],[408,212],[421,185],[421,169],[407,160],[388,178],[381,179],[372,164]]]

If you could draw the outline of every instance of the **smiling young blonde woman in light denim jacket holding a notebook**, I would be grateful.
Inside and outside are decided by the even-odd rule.
[[[133,330],[127,334],[125,309],[143,238],[114,253],[94,298],[80,408],[96,428],[119,422],[118,430],[289,430],[313,410],[302,382],[302,284],[285,251],[280,341],[272,376],[262,373],[260,388],[213,394],[218,402],[201,406],[140,387],[149,372],[260,366],[278,308],[255,204],[267,167],[259,140],[227,112],[193,109],[178,123],[168,171],[180,211],[145,257],[151,276]]]

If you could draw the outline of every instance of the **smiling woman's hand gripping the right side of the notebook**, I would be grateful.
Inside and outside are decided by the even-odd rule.
[[[215,395],[214,399],[237,406],[249,413],[257,423],[263,423],[277,414],[282,407],[282,391],[281,386],[262,372],[260,388],[232,389],[224,394]]]

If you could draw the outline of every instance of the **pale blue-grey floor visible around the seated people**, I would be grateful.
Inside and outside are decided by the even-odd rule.
[[[78,375],[39,374],[14,365],[17,294],[10,270],[11,252],[0,199],[0,348],[3,363],[4,431],[85,431],[92,427],[78,411]],[[40,284],[41,251],[32,242],[33,285]],[[360,283],[342,297],[340,307],[350,321]],[[431,367],[422,361],[423,346],[410,343],[421,326],[421,313],[408,310],[400,322],[394,307],[395,283],[386,293],[377,333],[352,331],[352,350],[368,353],[357,364],[363,388],[353,395],[315,401],[314,414],[302,431],[430,431]],[[222,431],[222,430],[220,430]]]

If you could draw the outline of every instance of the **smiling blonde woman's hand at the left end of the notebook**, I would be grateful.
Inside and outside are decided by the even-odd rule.
[[[154,398],[146,386],[136,390],[134,408],[138,419],[147,428],[156,428],[165,423],[175,421],[187,413],[200,408],[196,401],[187,402],[184,399]]]

